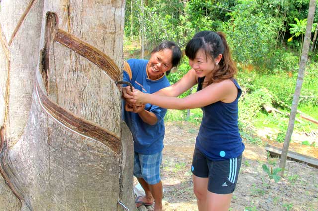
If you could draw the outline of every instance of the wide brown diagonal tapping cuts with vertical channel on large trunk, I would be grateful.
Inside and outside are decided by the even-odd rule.
[[[112,79],[117,79],[114,76],[117,75],[120,71],[116,64],[104,53],[99,51],[98,49],[90,46],[79,40],[78,38],[72,37],[70,34],[57,29],[58,17],[55,13],[48,12],[46,16],[46,25],[45,25],[45,48],[43,50],[43,55],[41,58],[42,62],[42,78],[45,84],[45,88],[47,90],[47,82],[48,82],[48,74],[49,74],[49,62],[50,62],[50,43],[53,37],[59,37],[59,42],[64,44],[65,46],[69,47],[71,50],[79,53],[80,55],[84,56],[88,60],[92,61],[94,64],[99,64],[99,67],[104,66],[111,67],[111,71],[108,69],[104,70],[106,73],[110,73]],[[59,34],[60,32],[60,34]],[[60,36],[59,36],[59,35]],[[84,51],[83,51],[84,50]],[[86,50],[86,52],[85,52]],[[88,53],[87,53],[88,52]],[[88,56],[87,56],[88,54]],[[117,73],[117,74],[114,74]],[[108,146],[111,150],[113,150],[116,154],[119,154],[121,148],[121,142],[119,137],[112,134],[111,132],[91,123],[87,120],[81,119],[72,113],[66,111],[58,104],[52,102],[42,91],[39,87],[38,82],[36,82],[36,92],[37,96],[39,97],[40,104],[42,108],[57,122],[61,123],[66,128],[78,133],[81,136],[86,138],[98,141],[103,143],[104,145]]]

